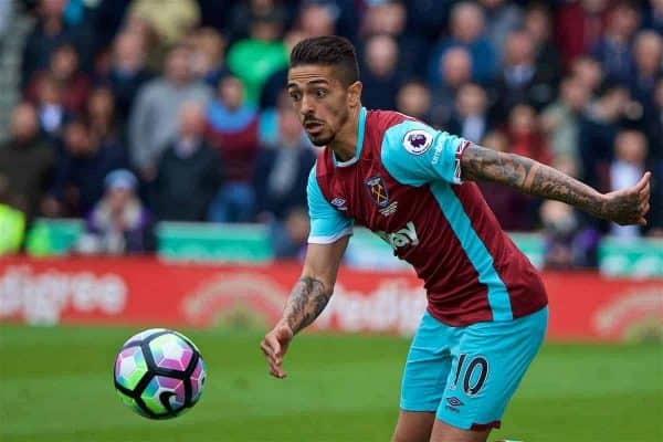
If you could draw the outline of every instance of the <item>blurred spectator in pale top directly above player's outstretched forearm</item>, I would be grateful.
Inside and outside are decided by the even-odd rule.
[[[557,101],[543,110],[540,126],[552,149],[555,166],[570,161],[579,170],[580,117],[587,110],[591,92],[575,76],[566,77],[559,91]]]

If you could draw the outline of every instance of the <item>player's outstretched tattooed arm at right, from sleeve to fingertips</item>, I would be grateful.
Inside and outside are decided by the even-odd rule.
[[[638,185],[610,193],[596,189],[530,158],[470,145],[461,157],[469,180],[501,182],[536,197],[554,199],[619,224],[646,224],[650,172]]]

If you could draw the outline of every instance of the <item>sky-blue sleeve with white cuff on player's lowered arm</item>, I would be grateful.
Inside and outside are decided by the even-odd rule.
[[[344,217],[325,199],[315,176],[315,165],[308,175],[306,186],[308,199],[308,215],[311,218],[311,233],[308,242],[312,244],[330,244],[343,236],[352,234],[352,220]]]

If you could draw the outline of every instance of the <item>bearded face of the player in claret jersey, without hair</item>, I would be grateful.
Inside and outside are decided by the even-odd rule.
[[[306,135],[316,146],[327,146],[349,118],[348,88],[334,75],[333,66],[292,67],[287,92]]]

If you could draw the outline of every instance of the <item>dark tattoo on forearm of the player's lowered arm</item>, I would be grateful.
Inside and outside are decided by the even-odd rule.
[[[296,334],[313,323],[325,309],[329,297],[332,293],[325,288],[322,281],[302,277],[293,287],[283,312],[283,317],[293,333]]]

